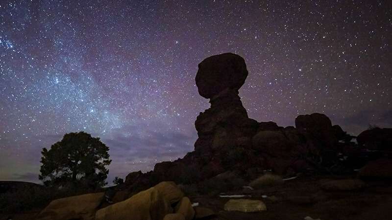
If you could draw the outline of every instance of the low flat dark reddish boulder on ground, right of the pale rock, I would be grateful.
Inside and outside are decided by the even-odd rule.
[[[325,191],[350,191],[359,190],[366,186],[366,183],[360,179],[341,179],[330,180],[321,184],[321,189]]]

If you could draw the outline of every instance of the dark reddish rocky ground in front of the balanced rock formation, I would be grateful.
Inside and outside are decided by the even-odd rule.
[[[231,198],[219,195],[188,195],[192,203],[210,208],[211,220],[303,220],[305,217],[321,220],[380,220],[392,216],[392,181],[372,180],[335,181],[355,176],[298,176],[283,184],[258,190],[227,192],[225,195],[245,195],[247,199],[262,200],[267,211],[243,213],[224,211]],[[359,184],[358,184],[359,183]],[[341,189],[341,190],[339,190]],[[267,196],[267,197],[266,197]],[[33,220],[40,210],[16,215],[0,215],[0,220]]]

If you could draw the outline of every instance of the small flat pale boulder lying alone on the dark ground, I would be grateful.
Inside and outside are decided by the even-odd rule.
[[[267,210],[266,204],[261,200],[230,199],[224,204],[225,211],[261,212]]]

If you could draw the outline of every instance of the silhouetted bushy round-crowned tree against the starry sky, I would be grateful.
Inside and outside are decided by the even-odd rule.
[[[67,133],[49,151],[42,149],[39,179],[47,186],[96,188],[105,185],[109,148],[86,132]]]

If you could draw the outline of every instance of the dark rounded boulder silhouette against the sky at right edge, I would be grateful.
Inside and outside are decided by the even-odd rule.
[[[369,150],[391,150],[392,129],[373,128],[357,136],[358,145]]]

